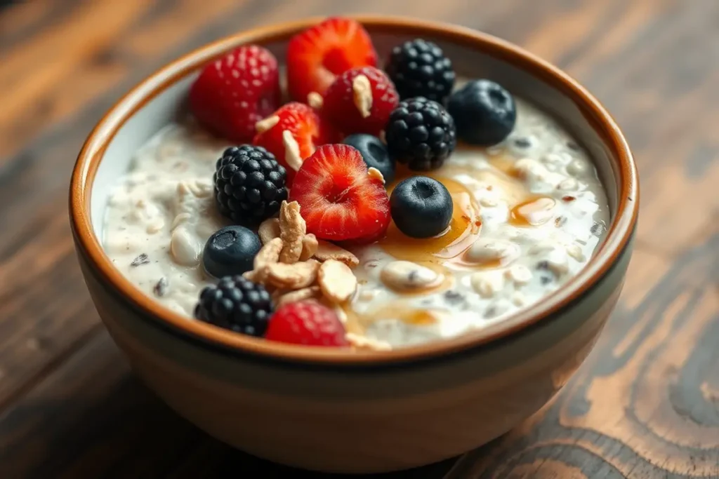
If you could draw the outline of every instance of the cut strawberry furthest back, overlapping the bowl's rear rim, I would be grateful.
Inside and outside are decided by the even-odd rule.
[[[357,20],[334,17],[296,34],[287,47],[290,96],[306,101],[324,95],[336,75],[351,68],[377,65],[372,39]]]

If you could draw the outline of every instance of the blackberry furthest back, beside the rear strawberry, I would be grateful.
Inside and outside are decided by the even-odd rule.
[[[403,100],[423,96],[444,103],[454,87],[452,62],[440,47],[423,39],[394,47],[385,70]]]

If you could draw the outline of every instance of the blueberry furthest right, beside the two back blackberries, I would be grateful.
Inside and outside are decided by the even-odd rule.
[[[449,98],[457,136],[467,143],[489,147],[505,139],[514,128],[514,98],[491,80],[472,80]]]

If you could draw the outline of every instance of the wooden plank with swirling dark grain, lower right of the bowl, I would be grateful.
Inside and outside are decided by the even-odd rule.
[[[544,411],[464,458],[456,477],[719,476],[716,251],[719,228],[649,290],[642,270],[668,265],[638,251],[623,301],[580,372]],[[628,307],[633,294],[642,299]]]

